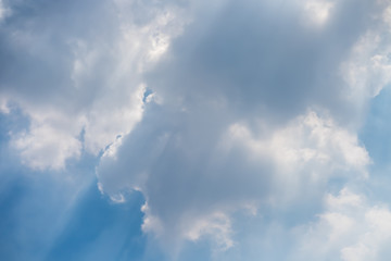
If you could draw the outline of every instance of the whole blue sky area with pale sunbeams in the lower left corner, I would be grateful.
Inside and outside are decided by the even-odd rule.
[[[27,128],[28,121],[12,111],[0,123],[0,260],[141,260],[139,192],[123,204],[102,196],[99,159],[87,153],[63,171],[33,171],[9,147],[9,130]]]

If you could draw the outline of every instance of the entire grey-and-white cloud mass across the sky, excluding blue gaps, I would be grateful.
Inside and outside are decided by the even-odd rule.
[[[293,235],[298,260],[381,260],[388,207],[345,187],[370,178],[358,130],[391,82],[390,10],[369,0],[1,1],[0,112],[29,120],[10,145],[39,171],[99,159],[100,191],[116,203],[140,191],[143,232],[174,256],[204,239],[235,249],[245,213]],[[312,253],[306,243],[325,238]]]

